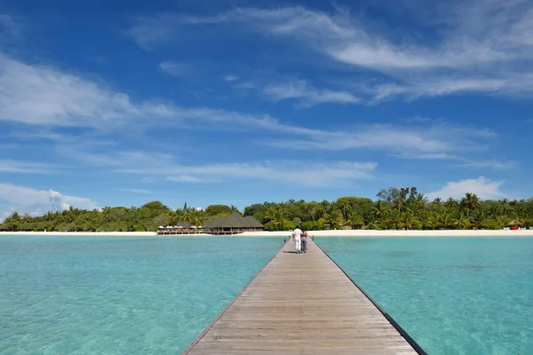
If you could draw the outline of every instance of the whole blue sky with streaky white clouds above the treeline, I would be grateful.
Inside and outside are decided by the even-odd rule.
[[[46,3],[0,6],[0,217],[533,195],[531,1]]]

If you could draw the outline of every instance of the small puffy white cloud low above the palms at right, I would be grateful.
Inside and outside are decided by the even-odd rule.
[[[443,200],[449,197],[460,199],[465,196],[465,193],[475,193],[482,200],[497,200],[507,197],[505,193],[500,191],[503,183],[503,181],[491,181],[487,177],[465,179],[457,182],[449,182],[441,190],[427,193],[426,197],[429,200],[434,200],[437,197]]]

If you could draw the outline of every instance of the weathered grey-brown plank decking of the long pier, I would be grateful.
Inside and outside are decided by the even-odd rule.
[[[287,242],[184,354],[424,353],[321,248],[308,248],[297,255]]]

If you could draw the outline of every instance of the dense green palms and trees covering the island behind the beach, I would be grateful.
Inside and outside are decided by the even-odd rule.
[[[17,212],[7,217],[0,230],[49,232],[144,232],[159,225],[189,221],[204,225],[215,217],[237,211],[235,206],[211,205],[204,210],[170,209],[160,201],[139,208],[105,207],[82,210],[70,208],[31,217]],[[285,201],[253,204],[243,210],[269,231],[290,230],[297,225],[307,230],[367,229],[501,229],[512,221],[533,225],[533,199],[481,201],[474,193],[461,200],[427,201],[416,187],[381,190],[377,200],[341,197],[337,201]]]

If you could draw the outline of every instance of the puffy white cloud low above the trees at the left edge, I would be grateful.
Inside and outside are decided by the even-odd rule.
[[[0,183],[0,201],[6,201],[8,211],[27,212],[30,215],[42,215],[51,209],[96,209],[95,201],[84,197],[68,196],[57,191],[36,190],[30,187]]]

